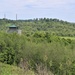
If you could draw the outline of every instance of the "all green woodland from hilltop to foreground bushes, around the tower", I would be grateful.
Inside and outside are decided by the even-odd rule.
[[[21,35],[6,32],[12,24],[22,30]],[[33,75],[75,75],[75,39],[71,37],[75,37],[75,23],[0,19],[0,62],[33,71]]]

